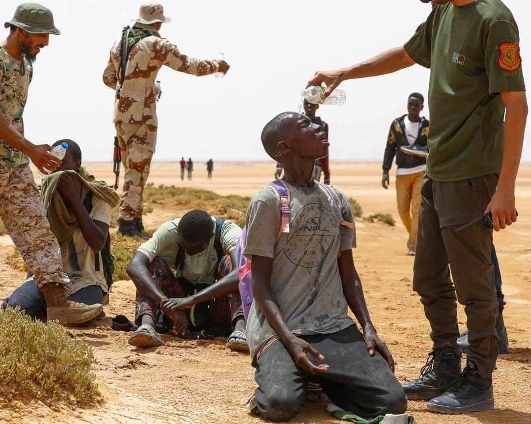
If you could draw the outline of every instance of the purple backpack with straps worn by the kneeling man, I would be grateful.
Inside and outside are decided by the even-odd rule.
[[[341,213],[341,200],[339,200],[339,197],[337,196],[336,192],[333,191],[330,185],[322,184],[318,181],[315,181],[315,183],[319,184],[322,188],[326,190],[326,192],[332,198],[336,207],[339,209],[339,212]],[[267,187],[270,187],[280,200],[280,225],[278,228],[277,235],[278,243],[282,233],[289,233],[289,214],[291,212],[289,208],[289,203],[291,201],[291,197],[289,195],[288,186],[282,180],[272,181],[268,184]],[[355,224],[352,222],[348,222],[345,219],[342,219],[342,215],[340,225],[344,225],[349,228],[355,228]],[[242,235],[239,237],[238,244],[236,245],[236,260],[238,264],[238,289],[239,294],[242,297],[243,314],[245,320],[247,320],[247,316],[249,316],[249,311],[251,310],[251,305],[254,300],[251,281],[251,261],[245,258],[243,255],[243,250],[245,249],[246,244],[247,230],[245,227],[243,227]]]

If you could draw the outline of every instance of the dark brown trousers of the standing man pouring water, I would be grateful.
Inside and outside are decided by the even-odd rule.
[[[424,178],[413,276],[434,348],[457,348],[456,300],[465,305],[468,359],[485,377],[491,376],[498,357],[492,230],[479,225],[456,229],[484,213],[497,184],[493,174],[456,182]]]

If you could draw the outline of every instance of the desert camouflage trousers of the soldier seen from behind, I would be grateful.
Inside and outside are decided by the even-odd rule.
[[[118,218],[142,218],[142,195],[148,180],[151,158],[155,153],[157,127],[142,123],[116,122],[116,134],[124,167],[124,185]]]

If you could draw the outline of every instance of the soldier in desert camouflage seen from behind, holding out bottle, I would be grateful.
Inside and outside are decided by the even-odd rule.
[[[149,36],[131,48],[123,84],[121,73],[121,39],[114,43],[103,74],[105,85],[116,91],[113,121],[125,170],[118,233],[139,236],[142,225],[142,192],[148,179],[151,157],[157,141],[155,81],[162,65],[196,76],[226,73],[224,60],[199,60],[183,55],[176,46],[161,38],[158,30],[168,22],[162,5],[144,3],[133,25],[133,35]]]

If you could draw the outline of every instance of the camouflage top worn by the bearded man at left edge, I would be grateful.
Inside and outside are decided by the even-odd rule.
[[[24,135],[22,113],[28,99],[28,87],[33,76],[33,67],[23,58],[24,75],[20,73],[20,60],[11,57],[0,47],[0,113]],[[0,166],[13,167],[29,163],[28,156],[0,140]]]

